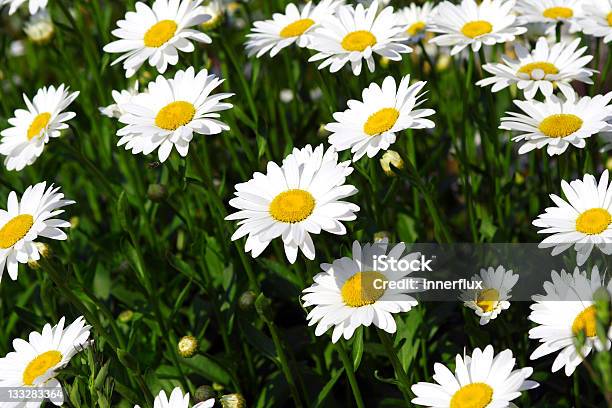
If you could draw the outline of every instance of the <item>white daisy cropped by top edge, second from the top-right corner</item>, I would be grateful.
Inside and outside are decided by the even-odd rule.
[[[582,17],[582,4],[583,0],[518,0],[516,12],[522,24],[545,23],[551,32],[557,23],[563,22],[570,24],[570,32],[576,32],[580,28],[577,23]]]

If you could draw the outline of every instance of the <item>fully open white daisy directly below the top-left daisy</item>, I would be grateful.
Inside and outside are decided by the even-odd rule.
[[[232,93],[211,92],[223,83],[206,69],[195,73],[193,67],[178,71],[174,78],[159,75],[149,83],[145,93],[133,96],[123,105],[125,114],[119,118],[126,126],[117,132],[133,154],[149,154],[158,149],[159,161],[164,162],[174,146],[182,157],[189,152],[193,134],[216,135],[229,126],[218,120],[220,111],[232,104],[222,102]]]

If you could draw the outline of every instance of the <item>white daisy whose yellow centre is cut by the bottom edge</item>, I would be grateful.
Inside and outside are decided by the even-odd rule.
[[[457,354],[455,372],[441,363],[434,364],[435,383],[419,382],[412,386],[413,404],[428,407],[515,407],[511,401],[521,391],[539,384],[528,378],[531,367],[514,369],[512,350],[495,355],[493,346],[474,349],[471,356]]]

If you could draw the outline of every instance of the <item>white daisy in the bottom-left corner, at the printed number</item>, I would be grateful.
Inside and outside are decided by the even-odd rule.
[[[32,332],[28,340],[13,340],[15,351],[0,358],[0,385],[6,388],[44,387],[57,389],[53,404],[64,402],[62,386],[55,378],[78,352],[89,347],[89,330],[83,317],[64,328],[65,318],[56,326],[46,324],[42,332]],[[39,407],[40,402],[13,401],[10,406]]]

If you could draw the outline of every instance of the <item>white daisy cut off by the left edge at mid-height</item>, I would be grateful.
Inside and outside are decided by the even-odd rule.
[[[11,191],[7,211],[0,209],[0,280],[5,265],[11,279],[16,280],[18,263],[40,259],[35,241],[38,237],[67,238],[60,228],[68,228],[70,223],[53,217],[64,212],[60,208],[74,201],[64,200],[64,194],[58,192],[59,187],[51,185],[45,189],[46,185],[42,182],[26,188],[21,202]]]

